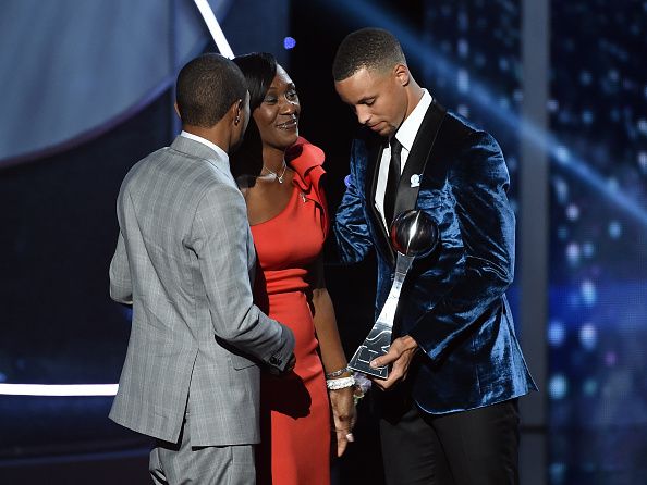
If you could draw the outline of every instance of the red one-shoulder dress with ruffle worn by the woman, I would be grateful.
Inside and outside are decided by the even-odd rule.
[[[288,325],[296,340],[293,373],[283,377],[261,373],[257,482],[329,485],[330,405],[306,281],[328,232],[320,188],[324,152],[300,138],[286,161],[295,172],[289,203],[271,220],[252,226],[260,265],[255,301],[269,316]]]

